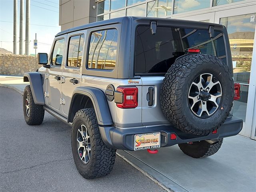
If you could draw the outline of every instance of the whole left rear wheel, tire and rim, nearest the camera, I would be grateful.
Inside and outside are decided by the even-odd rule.
[[[78,172],[86,179],[108,175],[114,166],[116,150],[104,144],[94,109],[81,109],[74,116],[71,146]]]

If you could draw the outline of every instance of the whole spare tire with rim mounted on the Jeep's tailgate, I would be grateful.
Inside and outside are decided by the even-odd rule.
[[[229,115],[233,97],[230,66],[206,54],[178,58],[165,74],[160,94],[170,123],[195,135],[218,129]]]

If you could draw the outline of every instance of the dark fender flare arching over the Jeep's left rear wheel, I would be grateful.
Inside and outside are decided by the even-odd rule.
[[[77,94],[88,96],[92,100],[98,124],[103,126],[113,125],[112,116],[104,92],[98,88],[87,86],[77,87],[74,90],[68,113],[68,122],[70,122],[71,116],[74,115],[72,114],[72,107]]]

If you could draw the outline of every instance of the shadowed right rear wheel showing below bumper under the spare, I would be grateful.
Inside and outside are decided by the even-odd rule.
[[[221,147],[223,138],[178,144],[180,150],[190,157],[201,158],[215,154]]]

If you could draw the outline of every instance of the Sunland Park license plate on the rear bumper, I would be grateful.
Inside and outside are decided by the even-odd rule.
[[[134,151],[160,148],[160,132],[134,135]]]

